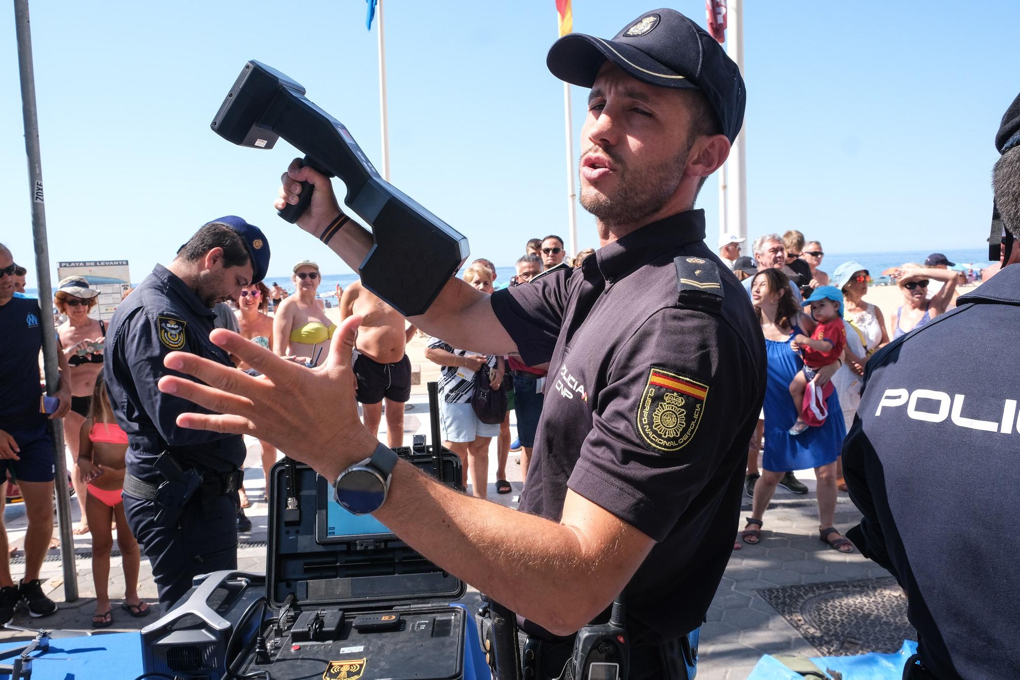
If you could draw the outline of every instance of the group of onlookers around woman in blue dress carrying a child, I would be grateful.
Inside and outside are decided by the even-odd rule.
[[[839,452],[860,404],[868,359],[892,337],[929,323],[955,304],[958,283],[968,282],[940,253],[924,262],[882,272],[902,294],[886,326],[882,311],[865,300],[871,272],[845,262],[829,274],[818,241],[797,230],[764,234],[742,256],[744,239],[723,234],[719,257],[744,282],[761,323],[768,358],[765,403],[748,447],[746,491],[752,512],[741,539],[762,537],[764,514],[777,485],[808,491],[794,473],[814,469],[819,538],[840,552],[853,545],[832,526],[837,490],[847,490]],[[741,547],[740,541],[733,548]]]

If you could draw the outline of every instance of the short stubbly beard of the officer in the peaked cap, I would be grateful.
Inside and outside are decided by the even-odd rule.
[[[688,140],[684,149],[673,158],[659,165],[633,171],[624,166],[610,150],[601,149],[602,153],[616,163],[617,169],[614,171],[619,173],[619,186],[612,197],[600,194],[591,187],[588,191],[582,189],[581,207],[606,226],[633,224],[656,214],[676,193],[693,146],[694,141]],[[590,151],[591,149],[585,150],[581,158]]]

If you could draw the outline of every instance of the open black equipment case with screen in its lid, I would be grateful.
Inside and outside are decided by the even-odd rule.
[[[432,446],[416,436],[412,447],[396,451],[422,472],[459,486],[460,459],[439,443],[434,385]],[[449,604],[466,590],[460,579],[372,516],[344,510],[333,498],[333,485],[308,466],[285,459],[272,467],[269,484],[266,598],[276,622],[263,631],[264,645],[246,645],[247,655],[233,665],[237,675],[271,680],[465,677],[470,615]]]

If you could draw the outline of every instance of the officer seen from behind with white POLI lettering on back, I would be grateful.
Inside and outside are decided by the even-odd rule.
[[[897,577],[917,629],[905,678],[1020,677],[1016,466],[1020,393],[1020,97],[996,136],[1003,269],[868,361],[843,449],[864,517],[847,532]],[[999,252],[998,244],[993,249]]]

